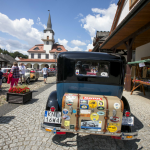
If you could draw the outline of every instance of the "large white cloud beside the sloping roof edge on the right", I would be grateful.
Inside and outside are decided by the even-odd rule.
[[[116,4],[110,4],[108,9],[92,8],[92,12],[96,14],[89,14],[81,19],[81,26],[90,33],[91,37],[95,36],[96,31],[110,31],[116,9]]]

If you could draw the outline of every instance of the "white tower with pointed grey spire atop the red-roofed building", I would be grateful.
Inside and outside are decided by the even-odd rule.
[[[52,24],[51,24],[51,16],[49,13],[48,21],[47,21],[47,28],[44,30],[44,38],[42,41],[44,42],[44,49],[46,51],[46,54],[49,54],[49,51],[52,50],[53,44],[55,42],[54,40],[54,31],[52,30]]]

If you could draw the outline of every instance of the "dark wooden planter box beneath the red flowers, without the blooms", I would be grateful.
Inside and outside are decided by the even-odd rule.
[[[28,92],[25,94],[18,93],[7,93],[7,102],[15,103],[15,104],[24,104],[25,102],[32,99],[32,92]]]

